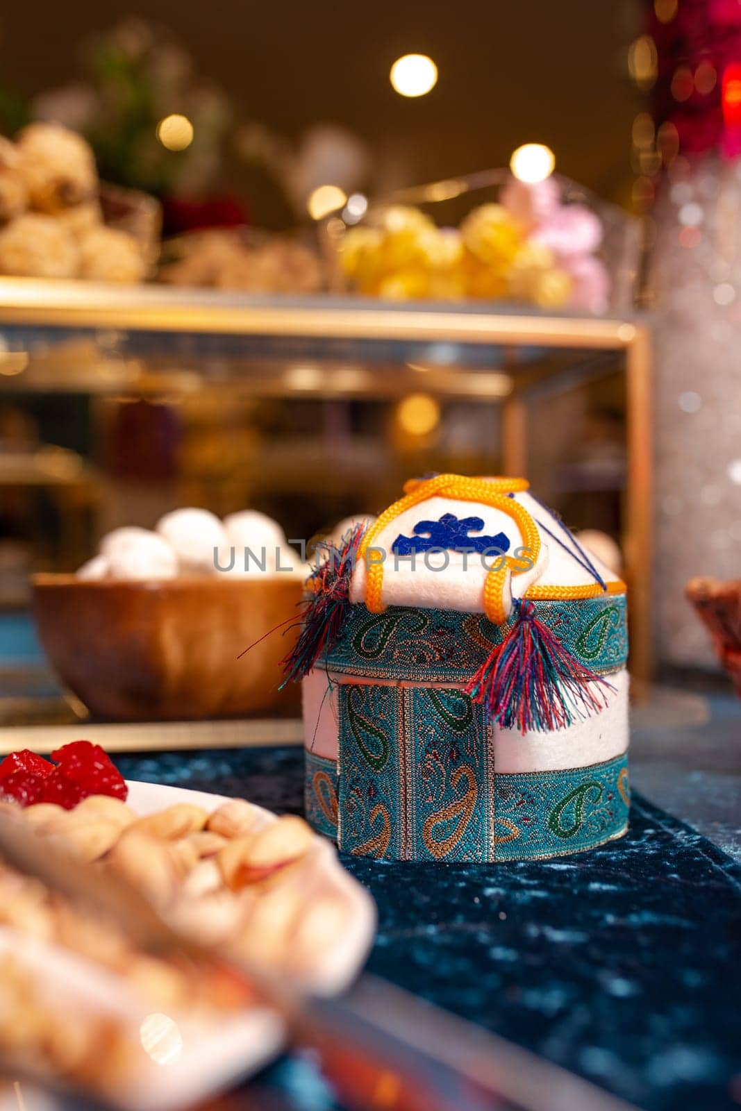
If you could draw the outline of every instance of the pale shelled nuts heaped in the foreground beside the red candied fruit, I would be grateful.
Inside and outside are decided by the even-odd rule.
[[[320,840],[300,818],[273,819],[242,799],[211,814],[179,803],[139,818],[109,795],[90,795],[73,810],[42,802],[20,813],[64,850],[123,877],[202,944],[250,963],[309,975],[348,925],[343,891],[322,865]],[[10,894],[0,873],[0,922],[80,949],[114,970],[121,963],[118,970],[130,975],[121,939],[113,942],[109,932],[100,937],[80,922],[69,928],[28,888]],[[143,975],[158,981],[161,1003],[182,1003],[177,977],[151,962]]]

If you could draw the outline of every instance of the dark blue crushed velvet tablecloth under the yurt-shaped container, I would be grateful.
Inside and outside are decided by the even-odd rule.
[[[117,763],[130,779],[302,809],[300,749]],[[741,867],[644,799],[624,840],[562,860],[344,864],[378,903],[370,971],[647,1111],[741,1104]],[[262,1082],[297,1111],[331,1105],[300,1059]]]

